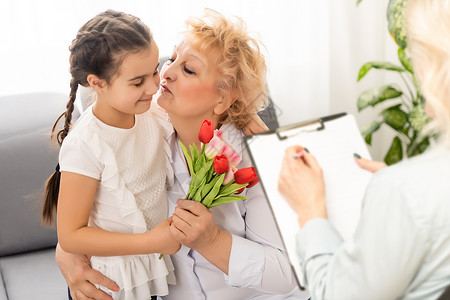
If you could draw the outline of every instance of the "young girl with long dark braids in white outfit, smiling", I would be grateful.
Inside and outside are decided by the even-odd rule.
[[[51,223],[58,206],[61,248],[92,255],[92,267],[119,285],[109,292],[114,299],[166,295],[175,284],[173,265],[168,255],[158,257],[180,244],[165,220],[171,168],[149,110],[159,85],[158,47],[138,18],[108,10],[80,28],[70,52],[71,93],[43,220]],[[78,85],[97,98],[69,132]]]

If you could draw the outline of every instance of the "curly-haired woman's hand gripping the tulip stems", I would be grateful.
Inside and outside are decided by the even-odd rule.
[[[179,200],[172,220],[172,236],[198,252],[208,249],[220,234],[211,212],[200,202]]]

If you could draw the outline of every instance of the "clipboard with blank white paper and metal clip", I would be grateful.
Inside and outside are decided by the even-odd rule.
[[[361,213],[361,203],[372,174],[359,168],[353,154],[371,158],[355,118],[339,113],[278,128],[244,138],[272,209],[278,231],[295,273],[303,288],[302,269],[296,253],[300,230],[296,213],[278,192],[278,177],[288,146],[308,148],[319,162],[326,186],[328,219],[344,240],[349,239]]]

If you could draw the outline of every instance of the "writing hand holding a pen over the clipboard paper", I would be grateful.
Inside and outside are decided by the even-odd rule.
[[[310,219],[327,217],[322,169],[302,147],[286,149],[278,190],[297,213],[300,226]]]

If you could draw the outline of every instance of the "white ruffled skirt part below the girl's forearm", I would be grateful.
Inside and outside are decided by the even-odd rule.
[[[146,300],[151,296],[164,296],[169,293],[168,284],[176,283],[174,267],[169,255],[164,255],[161,259],[157,253],[93,256],[91,266],[119,285],[118,292],[96,285],[113,299]]]

